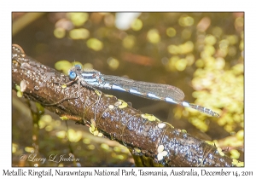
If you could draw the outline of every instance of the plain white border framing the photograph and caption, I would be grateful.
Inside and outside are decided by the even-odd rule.
[[[48,3],[49,2],[49,3]],[[254,170],[254,154],[255,149],[255,118],[253,117],[254,105],[256,100],[254,95],[256,91],[255,84],[255,6],[253,1],[230,1],[230,0],[183,0],[183,1],[120,1],[120,0],[101,0],[101,1],[1,1],[1,178],[3,176],[3,168],[5,170],[11,168],[11,12],[12,11],[245,11],[245,168],[229,169],[229,170]],[[9,75],[7,75],[9,74]],[[253,115],[254,114],[254,115]],[[3,167],[4,166],[4,167]],[[16,168],[17,169],[17,168]],[[28,169],[28,168],[26,168]],[[34,169],[34,168],[32,168]],[[45,170],[47,168],[44,168]],[[103,169],[103,168],[102,168]],[[188,169],[188,168],[185,168]],[[42,170],[42,168],[41,168]],[[61,170],[78,170],[78,168],[61,168]],[[150,168],[149,170],[154,170]],[[171,169],[166,169],[171,170]],[[195,169],[196,170],[196,169]],[[197,169],[201,170],[201,169]],[[208,170],[210,170],[208,168]],[[211,170],[220,170],[212,169]],[[255,170],[254,170],[255,171]],[[254,176],[256,173],[254,173]],[[64,176],[67,177],[67,176]],[[113,176],[105,176],[113,178]],[[123,176],[122,176],[123,177]],[[220,177],[220,176],[218,176]],[[44,177],[46,178],[46,177]],[[145,178],[145,177],[144,177]],[[230,177],[230,178],[235,178]],[[240,177],[243,178],[243,177]]]

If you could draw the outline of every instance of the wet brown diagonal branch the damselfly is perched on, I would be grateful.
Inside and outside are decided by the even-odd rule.
[[[67,76],[32,60],[18,45],[13,45],[12,55],[13,90],[20,85],[26,98],[39,102],[62,119],[90,125],[95,135],[101,132],[129,147],[133,154],[164,166],[236,166],[219,148],[126,106],[115,96],[80,86],[79,98],[74,98],[78,84],[64,88],[60,83],[69,82]]]

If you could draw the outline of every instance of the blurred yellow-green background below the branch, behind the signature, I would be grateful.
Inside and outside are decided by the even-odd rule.
[[[14,106],[20,105],[16,98],[13,103]],[[90,135],[84,126],[70,122],[67,128],[65,122],[45,114],[38,118],[39,130],[35,129],[29,110],[26,106],[14,107],[13,124],[19,125],[20,130],[13,126],[13,166],[133,165],[126,147],[116,141]]]

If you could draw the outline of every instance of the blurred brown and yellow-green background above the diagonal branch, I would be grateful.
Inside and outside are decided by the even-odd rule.
[[[169,116],[167,122],[195,136],[215,139],[218,147],[230,147],[230,156],[234,159],[240,156],[243,160],[243,15],[14,13],[13,43],[25,49],[27,55],[66,74],[73,64],[79,63],[105,74],[177,86],[183,90],[186,101],[211,108],[220,118],[170,104],[156,106],[154,104],[160,103],[137,96],[121,94],[120,98],[133,101],[134,107],[144,107],[143,112],[154,113],[162,120]],[[30,24],[25,23],[26,26],[21,26],[23,29],[16,27],[20,20]],[[73,143],[83,138],[77,130],[67,133]],[[59,131],[55,136],[64,134]],[[79,137],[73,139],[73,136]],[[43,148],[40,149],[43,151]]]

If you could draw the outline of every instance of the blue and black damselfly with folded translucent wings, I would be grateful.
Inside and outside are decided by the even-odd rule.
[[[128,78],[104,75],[96,70],[82,70],[82,66],[75,65],[69,71],[69,78],[73,81],[79,81],[85,87],[97,87],[107,90],[121,90],[139,95],[156,101],[166,101],[181,105],[183,107],[193,108],[201,113],[207,113],[213,117],[219,117],[218,113],[211,109],[191,104],[183,101],[185,95],[182,90],[168,84],[153,84],[147,82],[135,81]]]

